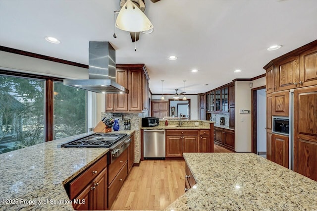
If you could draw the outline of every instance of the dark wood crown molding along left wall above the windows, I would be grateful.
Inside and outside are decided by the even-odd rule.
[[[22,50],[18,50],[18,49],[12,49],[12,48],[8,48],[8,47],[4,47],[4,46],[0,46],[0,51],[8,52],[8,53],[15,53],[15,54],[19,54],[19,55],[30,56],[30,57],[33,57],[33,58],[39,58],[39,59],[44,59],[44,60],[48,60],[48,61],[54,61],[54,62],[58,62],[58,63],[62,63],[62,64],[68,64],[68,65],[77,66],[77,67],[83,67],[83,68],[87,68],[88,69],[88,65],[86,65],[86,64],[80,64],[80,63],[77,63],[77,62],[67,61],[67,60],[60,59],[60,58],[55,58],[55,57],[52,57],[52,56],[42,55],[42,54],[38,54],[38,53],[26,52],[26,51],[22,51]]]

